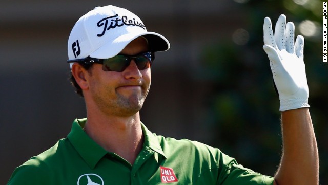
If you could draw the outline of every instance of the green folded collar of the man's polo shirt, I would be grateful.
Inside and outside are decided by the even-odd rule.
[[[86,122],[87,118],[75,119],[71,132],[68,134],[67,138],[72,143],[79,155],[86,161],[89,167],[94,169],[99,160],[108,152],[103,147],[98,145],[93,139],[91,139],[83,130]],[[141,128],[145,136],[144,147],[149,148],[166,158],[156,135],[150,132],[143,123],[141,123]]]

